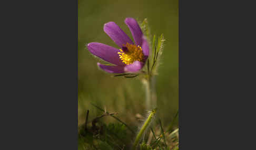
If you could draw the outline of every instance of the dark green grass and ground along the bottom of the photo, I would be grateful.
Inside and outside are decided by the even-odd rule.
[[[99,106],[94,106],[96,109],[103,111],[103,113],[100,116],[94,117],[89,122],[90,125],[86,124],[88,123],[86,120],[86,123],[79,127],[78,149],[179,149],[179,128],[176,128],[173,132],[168,132],[164,131],[161,120],[159,120],[159,124],[150,124],[154,122],[155,110],[150,112],[143,126],[140,128],[135,142],[131,145],[134,132],[127,132],[130,130],[130,127],[117,117],[115,117],[119,121],[117,123],[106,124],[102,122],[100,120],[102,117],[113,117],[116,113],[109,113]],[[147,130],[149,128],[151,130]],[[152,135],[154,136],[154,140],[152,140]]]

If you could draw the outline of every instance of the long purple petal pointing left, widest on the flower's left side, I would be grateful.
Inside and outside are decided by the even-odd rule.
[[[87,45],[88,50],[95,56],[100,57],[101,59],[113,63],[118,66],[125,66],[125,64],[119,58],[119,49],[99,43],[99,42],[90,42]]]

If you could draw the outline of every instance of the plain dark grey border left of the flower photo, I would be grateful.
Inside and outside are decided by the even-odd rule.
[[[77,149],[77,4],[3,5],[0,149]]]

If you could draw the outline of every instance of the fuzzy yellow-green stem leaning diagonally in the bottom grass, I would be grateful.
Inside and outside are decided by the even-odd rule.
[[[153,116],[156,113],[156,109],[153,109],[152,112],[150,113],[149,117],[147,117],[145,123],[143,124],[139,134],[137,134],[136,138],[135,138],[135,142],[133,143],[132,149],[135,150],[137,145],[140,142],[141,136],[143,135],[144,131],[146,130],[146,128],[150,125]]]

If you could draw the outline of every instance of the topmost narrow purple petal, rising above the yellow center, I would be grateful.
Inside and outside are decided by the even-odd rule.
[[[129,29],[131,30],[133,39],[135,41],[136,45],[142,46],[142,30],[139,26],[139,24],[136,22],[135,19],[133,18],[126,18],[124,20],[125,24],[129,27]]]

